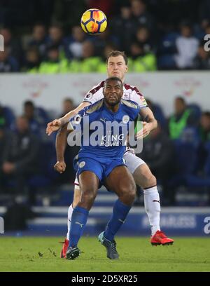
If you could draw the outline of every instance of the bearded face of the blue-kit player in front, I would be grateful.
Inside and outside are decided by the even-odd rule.
[[[120,81],[107,81],[104,86],[104,100],[110,106],[118,104],[123,97],[123,86]]]

